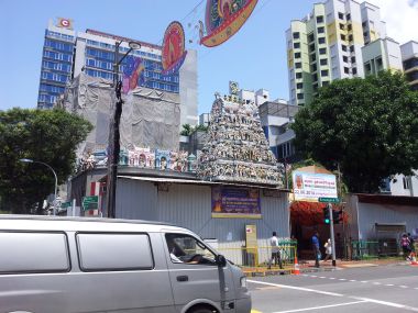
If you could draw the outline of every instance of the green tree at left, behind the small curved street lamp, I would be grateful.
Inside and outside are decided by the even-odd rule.
[[[55,178],[43,165],[19,160],[30,158],[48,164],[58,185],[63,183],[75,168],[77,145],[91,130],[88,121],[59,109],[0,111],[2,210],[41,213],[43,200],[54,190]]]

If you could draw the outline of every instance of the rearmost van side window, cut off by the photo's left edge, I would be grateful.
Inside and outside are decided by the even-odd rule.
[[[66,272],[70,270],[65,233],[0,232],[0,272]]]

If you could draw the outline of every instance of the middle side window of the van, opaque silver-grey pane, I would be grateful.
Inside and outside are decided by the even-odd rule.
[[[78,233],[82,271],[150,270],[154,268],[150,238],[133,233]]]

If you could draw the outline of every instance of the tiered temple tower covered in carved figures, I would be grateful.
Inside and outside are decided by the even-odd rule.
[[[268,147],[253,102],[217,93],[208,132],[198,156],[200,179],[283,187],[284,166]]]

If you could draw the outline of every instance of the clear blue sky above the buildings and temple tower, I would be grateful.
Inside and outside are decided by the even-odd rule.
[[[94,29],[155,44],[169,22],[180,21],[186,47],[198,51],[199,114],[210,110],[216,91],[228,91],[229,80],[248,90],[267,89],[272,99],[287,99],[285,31],[315,2],[258,0],[238,34],[207,48],[196,43],[194,31],[204,20],[206,1],[0,0],[0,110],[36,107],[44,31],[58,16],[73,19],[76,31]]]

